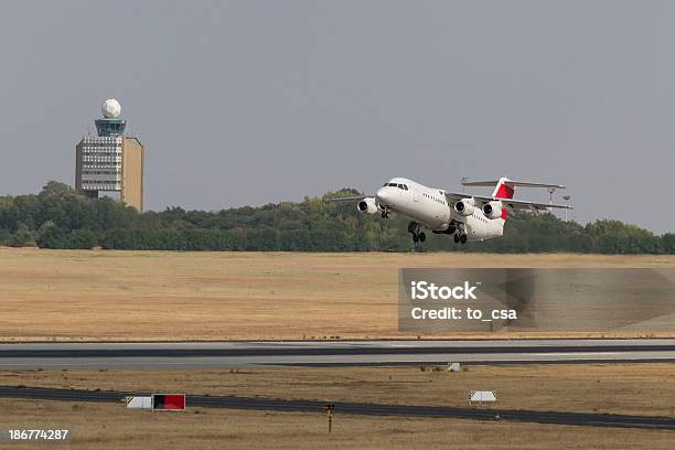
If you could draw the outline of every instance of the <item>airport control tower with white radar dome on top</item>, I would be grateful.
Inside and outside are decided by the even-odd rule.
[[[143,165],[146,148],[136,137],[126,136],[127,121],[114,98],[94,120],[97,136],[86,136],[75,146],[75,189],[90,197],[100,191],[119,192],[120,200],[143,212]]]

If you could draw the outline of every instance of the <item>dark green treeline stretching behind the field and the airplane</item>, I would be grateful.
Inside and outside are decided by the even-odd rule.
[[[153,250],[675,254],[675,234],[658,236],[619,221],[580,225],[528,213],[510,215],[502,238],[457,245],[450,236],[427,233],[427,242],[415,245],[403,218],[382,219],[358,213],[351,203],[325,201],[354,194],[342,190],[300,203],[139,214],[111,199],[88,199],[52,181],[38,195],[0,197],[0,243]]]

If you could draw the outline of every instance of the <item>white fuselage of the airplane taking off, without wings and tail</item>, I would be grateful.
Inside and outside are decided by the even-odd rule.
[[[503,218],[489,218],[480,207],[463,216],[448,203],[442,189],[428,188],[409,179],[389,180],[375,194],[375,203],[379,211],[394,212],[436,233],[447,233],[459,226],[468,240],[484,240],[504,233]]]

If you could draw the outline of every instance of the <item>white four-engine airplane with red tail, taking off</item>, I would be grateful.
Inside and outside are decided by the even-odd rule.
[[[452,235],[456,244],[485,240],[504,234],[510,211],[527,210],[534,213],[549,208],[571,210],[569,205],[537,203],[513,199],[516,188],[565,189],[560,184],[513,181],[502,176],[495,181],[462,181],[464,186],[494,186],[492,195],[469,195],[428,188],[405,178],[393,178],[374,196],[358,195],[330,199],[332,202],[357,202],[364,214],[381,214],[383,218],[399,214],[410,219],[408,233],[413,242],[424,243],[424,228],[435,234]]]

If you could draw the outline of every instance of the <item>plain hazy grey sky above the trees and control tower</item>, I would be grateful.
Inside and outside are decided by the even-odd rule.
[[[115,97],[151,210],[508,175],[675,231],[674,23],[672,1],[3,2],[0,194],[73,184]]]

